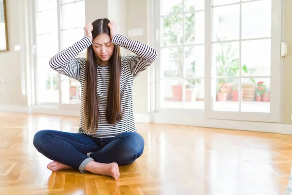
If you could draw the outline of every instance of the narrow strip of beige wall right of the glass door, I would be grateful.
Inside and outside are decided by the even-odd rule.
[[[284,124],[292,124],[292,0],[286,0],[285,39],[288,53],[284,59]]]

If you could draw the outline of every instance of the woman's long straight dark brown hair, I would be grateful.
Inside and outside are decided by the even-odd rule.
[[[109,23],[109,19],[98,19],[92,22],[92,38],[95,39],[102,33],[110,36],[110,28],[108,27]],[[91,45],[87,48],[84,102],[84,114],[87,118],[85,131],[88,133],[91,133],[97,129],[100,114],[97,96],[97,64],[95,59],[95,53]],[[114,45],[114,52],[109,62],[111,64],[111,71],[106,119],[108,123],[115,124],[122,118],[120,97],[121,53],[118,45]]]

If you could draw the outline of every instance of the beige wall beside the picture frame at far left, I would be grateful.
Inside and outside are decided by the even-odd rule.
[[[21,93],[20,51],[14,51],[14,46],[20,44],[19,0],[6,0],[8,22],[8,52],[0,52],[0,78],[5,78],[5,84],[0,84],[0,104],[27,105],[27,97]]]

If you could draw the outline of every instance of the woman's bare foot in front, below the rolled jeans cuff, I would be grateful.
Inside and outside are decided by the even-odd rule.
[[[114,180],[117,180],[120,177],[119,166],[115,162],[106,164],[106,163],[95,162],[92,160],[86,165],[85,170],[93,174],[100,174],[103,176],[112,176]]]

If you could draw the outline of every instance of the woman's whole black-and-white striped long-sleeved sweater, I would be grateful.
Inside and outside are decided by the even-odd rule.
[[[144,71],[155,59],[157,53],[155,49],[149,47],[138,41],[128,39],[127,37],[117,34],[113,37],[112,43],[124,47],[125,49],[133,52],[135,55],[126,55],[121,57],[122,69],[120,80],[120,93],[121,93],[121,113],[122,119],[115,125],[109,124],[106,120],[106,106],[108,97],[108,85],[110,80],[109,66],[99,66],[97,64],[97,94],[99,98],[99,122],[98,128],[94,133],[88,134],[84,131],[85,128],[85,115],[83,112],[84,99],[85,99],[85,63],[86,58],[76,58],[77,55],[89,47],[92,41],[84,36],[79,41],[75,42],[72,46],[62,50],[50,59],[50,66],[52,69],[60,74],[75,78],[81,84],[81,105],[80,105],[80,133],[88,134],[92,137],[114,137],[123,132],[136,132],[133,115],[133,81],[134,78]]]

